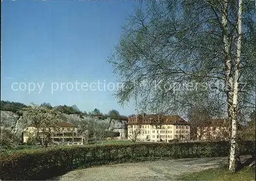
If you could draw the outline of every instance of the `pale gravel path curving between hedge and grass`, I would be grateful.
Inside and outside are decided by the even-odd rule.
[[[177,180],[183,174],[219,167],[226,163],[227,157],[123,163],[74,170],[54,179],[63,181]]]

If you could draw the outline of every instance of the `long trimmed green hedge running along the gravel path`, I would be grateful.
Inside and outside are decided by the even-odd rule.
[[[241,154],[254,154],[255,142],[242,142]],[[0,156],[2,180],[42,180],[95,165],[201,156],[227,156],[228,142],[141,143],[60,146]]]

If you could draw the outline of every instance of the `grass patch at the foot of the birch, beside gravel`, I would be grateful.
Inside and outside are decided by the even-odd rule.
[[[244,167],[237,173],[229,173],[227,167],[212,168],[183,175],[181,180],[255,180],[255,171]]]

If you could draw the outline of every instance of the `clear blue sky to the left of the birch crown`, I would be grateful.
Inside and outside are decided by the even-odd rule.
[[[98,108],[107,113],[116,109],[122,115],[135,114],[134,102],[121,108],[113,91],[79,87],[82,82],[105,81],[106,85],[116,82],[106,58],[118,43],[125,17],[137,4],[135,1],[3,1],[1,100],[25,104],[49,102],[53,106],[75,104],[80,110]],[[75,87],[67,90],[76,81],[80,83],[79,90]],[[20,82],[24,83],[19,89]],[[30,93],[29,82],[36,85],[33,90],[30,84]],[[59,86],[54,92],[52,82],[56,82],[53,88]],[[62,90],[61,82],[66,82]],[[67,87],[68,82],[71,83]],[[26,89],[22,90],[24,84]]]

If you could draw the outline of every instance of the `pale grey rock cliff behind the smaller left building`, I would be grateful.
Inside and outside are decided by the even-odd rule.
[[[99,120],[97,117],[93,116],[81,116],[81,115],[67,115],[61,114],[61,119],[63,122],[69,122],[71,124],[77,125],[79,129],[79,123],[83,120],[94,120],[102,121],[109,123],[109,130],[119,132],[120,137],[117,139],[124,140],[127,137],[127,128],[126,121],[124,120],[113,120],[107,118],[105,120]],[[29,120],[24,119],[22,116],[19,116],[11,111],[2,111],[1,110],[1,129],[9,129],[19,137],[22,135],[22,132],[26,129],[29,124]]]

